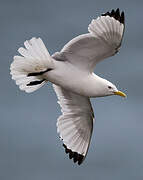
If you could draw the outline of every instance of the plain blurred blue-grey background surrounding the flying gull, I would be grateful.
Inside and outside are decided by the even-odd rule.
[[[93,99],[96,124],[86,160],[74,164],[56,132],[60,108],[51,84],[26,94],[9,75],[23,42],[41,37],[49,52],[86,33],[92,18],[112,8],[126,14],[121,51],[95,72],[127,99]],[[0,179],[143,179],[143,1],[0,0]]]

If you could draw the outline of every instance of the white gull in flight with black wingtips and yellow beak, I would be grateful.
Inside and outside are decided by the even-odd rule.
[[[62,115],[57,132],[65,152],[78,165],[84,161],[91,140],[94,112],[90,98],[126,94],[94,73],[96,64],[115,55],[121,46],[125,20],[119,8],[93,19],[88,33],[69,41],[60,52],[50,55],[41,38],[20,47],[10,66],[12,79],[27,93],[48,81],[58,97]]]

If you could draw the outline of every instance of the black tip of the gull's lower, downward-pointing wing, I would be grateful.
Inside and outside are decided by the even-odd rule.
[[[69,154],[69,159],[73,158],[73,162],[74,163],[78,163],[78,165],[81,165],[83,160],[84,160],[84,156],[82,154],[79,154],[77,152],[73,152],[71,149],[68,149],[67,146],[65,144],[63,144],[63,147],[65,148],[65,153]]]

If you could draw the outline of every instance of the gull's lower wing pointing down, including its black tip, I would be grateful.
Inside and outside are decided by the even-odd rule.
[[[57,132],[69,158],[80,165],[87,154],[93,129],[94,113],[90,100],[60,86],[53,87],[62,109],[57,120]]]

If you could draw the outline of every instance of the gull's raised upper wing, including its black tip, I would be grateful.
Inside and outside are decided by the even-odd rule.
[[[119,51],[124,34],[124,12],[117,9],[102,14],[91,21],[88,31],[69,41],[58,57],[92,72],[99,61]]]

